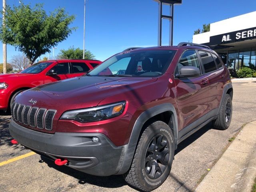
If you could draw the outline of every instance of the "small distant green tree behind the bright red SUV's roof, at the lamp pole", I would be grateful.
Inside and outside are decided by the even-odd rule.
[[[68,48],[67,50],[60,50],[60,54],[58,55],[59,59],[82,59],[83,58],[83,50],[80,48],[74,48],[74,46]],[[85,59],[94,59],[95,56],[92,52],[85,50],[84,52]]]

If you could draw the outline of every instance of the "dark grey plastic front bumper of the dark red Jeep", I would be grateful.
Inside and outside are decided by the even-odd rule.
[[[20,126],[13,120],[9,131],[20,144],[36,153],[53,160],[65,158],[66,166],[97,176],[116,174],[126,149],[126,146],[115,146],[100,133],[47,134]],[[92,137],[98,137],[99,142],[92,142]]]

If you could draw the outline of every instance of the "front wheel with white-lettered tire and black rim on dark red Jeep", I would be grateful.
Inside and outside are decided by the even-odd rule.
[[[123,175],[124,179],[134,188],[152,191],[168,177],[173,158],[172,130],[162,121],[153,122],[142,133],[132,165]]]

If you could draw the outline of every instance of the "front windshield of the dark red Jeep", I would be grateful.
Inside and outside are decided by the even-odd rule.
[[[112,56],[88,76],[147,76],[164,74],[176,50],[143,50]]]

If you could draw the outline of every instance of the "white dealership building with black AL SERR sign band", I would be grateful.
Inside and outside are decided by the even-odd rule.
[[[210,31],[193,36],[193,43],[216,51],[229,69],[256,65],[256,11],[210,24]]]

